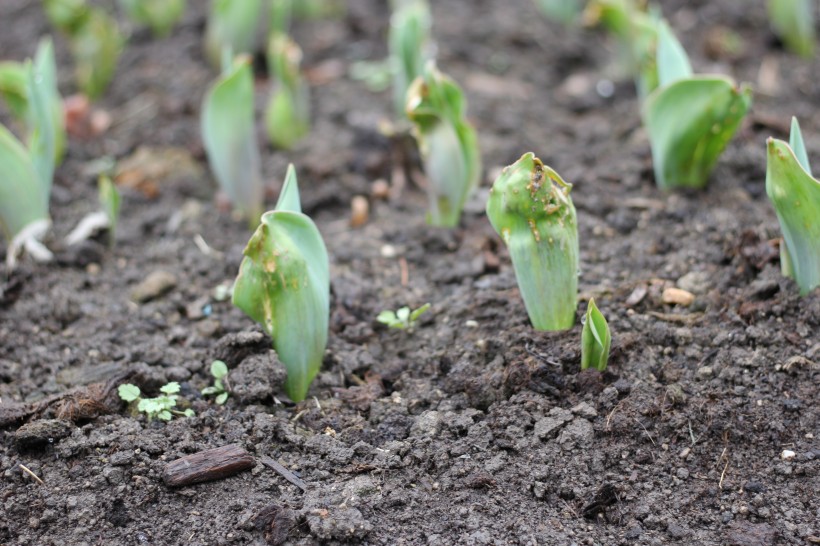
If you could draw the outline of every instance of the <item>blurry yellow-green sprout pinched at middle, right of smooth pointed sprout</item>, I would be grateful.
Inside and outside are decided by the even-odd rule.
[[[285,34],[275,33],[268,45],[269,72],[274,80],[265,127],[277,148],[292,148],[310,131],[310,98],[302,78],[302,50]]]

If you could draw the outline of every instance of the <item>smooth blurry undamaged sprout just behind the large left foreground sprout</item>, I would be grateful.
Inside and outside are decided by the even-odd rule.
[[[251,225],[264,205],[250,58],[240,56],[205,94],[202,141],[219,187]]]

